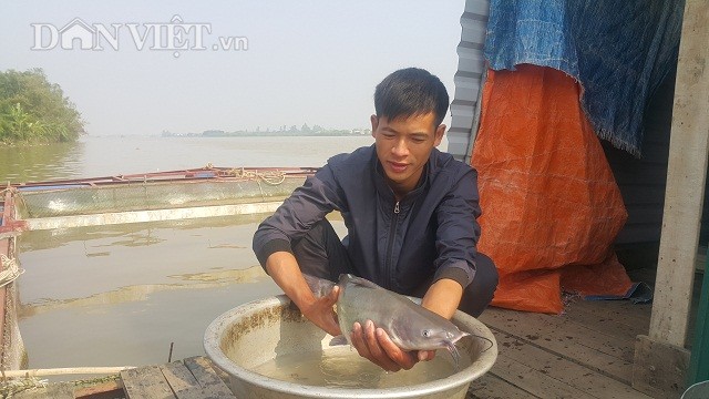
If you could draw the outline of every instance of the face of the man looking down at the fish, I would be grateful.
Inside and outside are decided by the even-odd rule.
[[[377,157],[398,198],[415,188],[434,146],[441,144],[445,125],[434,125],[433,112],[397,117],[371,116]]]

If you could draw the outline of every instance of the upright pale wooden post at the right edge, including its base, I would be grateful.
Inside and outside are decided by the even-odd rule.
[[[636,345],[633,386],[654,396],[682,391],[685,349],[709,152],[709,0],[687,0],[648,336]]]

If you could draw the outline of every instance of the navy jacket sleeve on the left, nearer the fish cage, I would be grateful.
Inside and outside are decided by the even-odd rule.
[[[302,238],[328,213],[342,208],[341,197],[329,165],[308,177],[254,234],[253,248],[261,266],[266,267],[266,259],[275,252],[292,253],[291,243]]]

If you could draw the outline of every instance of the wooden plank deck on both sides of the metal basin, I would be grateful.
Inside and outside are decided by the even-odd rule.
[[[634,280],[651,284],[651,277]],[[480,319],[495,335],[500,355],[492,370],[473,381],[467,399],[649,398],[630,380],[635,339],[648,332],[650,313],[649,304],[579,298],[569,300],[562,315],[490,308]],[[121,377],[131,399],[234,398],[215,369],[196,357]],[[27,398],[60,398],[65,390],[50,389]]]

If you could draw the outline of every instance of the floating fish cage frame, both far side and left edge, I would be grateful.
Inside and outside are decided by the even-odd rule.
[[[8,184],[0,190],[0,270],[23,231],[273,212],[316,168],[212,167]],[[17,264],[16,264],[17,265]],[[27,367],[16,284],[0,286],[0,367]]]

